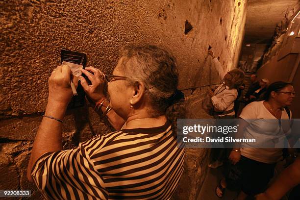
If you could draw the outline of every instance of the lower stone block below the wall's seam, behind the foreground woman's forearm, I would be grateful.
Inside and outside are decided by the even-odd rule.
[[[34,114],[0,121],[0,138],[9,140],[34,140],[42,121],[42,114]],[[63,138],[83,142],[95,134],[111,132],[113,129],[100,120],[100,116],[89,106],[68,110],[64,119]]]

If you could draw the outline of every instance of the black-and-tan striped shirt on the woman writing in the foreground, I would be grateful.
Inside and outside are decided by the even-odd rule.
[[[184,148],[171,125],[123,129],[43,154],[32,177],[46,199],[170,199],[183,172]]]

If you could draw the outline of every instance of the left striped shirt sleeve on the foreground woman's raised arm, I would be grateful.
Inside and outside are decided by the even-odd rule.
[[[47,152],[37,160],[31,175],[46,199],[108,199],[103,179],[84,148],[93,140],[99,138],[71,150]]]

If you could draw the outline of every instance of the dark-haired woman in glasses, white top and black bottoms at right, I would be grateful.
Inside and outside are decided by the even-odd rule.
[[[240,133],[245,138],[255,138],[257,141],[255,146],[243,143],[242,148],[233,149],[229,155],[229,160],[236,165],[234,169],[239,169],[232,176],[239,176],[241,181],[241,192],[237,200],[245,200],[263,192],[273,177],[276,162],[282,159],[282,148],[257,147],[271,142],[275,145],[278,143],[278,135],[285,135],[290,131],[287,122],[291,118],[291,111],[286,106],[291,105],[294,97],[292,84],[278,81],[267,88],[265,100],[251,102],[243,109],[240,115],[243,119],[239,123]],[[217,187],[216,194],[219,197],[223,196],[228,181],[230,179],[226,177]]]

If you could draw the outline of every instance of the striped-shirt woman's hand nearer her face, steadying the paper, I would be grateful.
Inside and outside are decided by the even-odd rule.
[[[80,82],[84,92],[87,96],[93,100],[95,103],[103,100],[104,95],[104,78],[105,75],[98,69],[94,67],[86,67],[85,70],[81,69],[81,72],[85,74],[88,79],[92,82],[91,85],[87,84],[86,79],[83,76],[80,76]],[[93,74],[92,74],[92,73]]]

